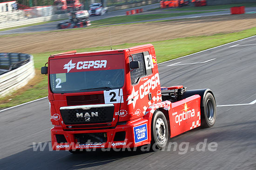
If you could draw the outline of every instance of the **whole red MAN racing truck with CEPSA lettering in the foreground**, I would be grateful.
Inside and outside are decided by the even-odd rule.
[[[52,147],[72,153],[90,148],[163,149],[172,138],[214,125],[210,89],[161,87],[155,48],[51,55],[48,74]]]

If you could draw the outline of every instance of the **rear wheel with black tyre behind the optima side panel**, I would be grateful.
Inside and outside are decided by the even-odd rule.
[[[201,126],[209,128],[215,124],[216,120],[216,101],[211,93],[207,93],[204,97],[201,107]]]

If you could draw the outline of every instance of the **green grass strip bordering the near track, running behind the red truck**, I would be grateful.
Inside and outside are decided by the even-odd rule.
[[[162,63],[170,59],[182,57],[189,55],[201,50],[206,50],[218,45],[227,44],[232,41],[236,41],[242,38],[247,38],[250,36],[256,35],[256,27],[229,34],[216,34],[212,36],[199,36],[199,37],[188,37],[188,38],[175,38],[165,41],[153,41],[153,42],[144,42],[144,43],[135,43],[135,44],[120,44],[113,46],[113,49],[118,48],[129,48],[135,45],[151,43],[155,46],[155,52],[157,56],[157,62]],[[96,47],[96,48],[86,48],[86,49],[77,49],[78,52],[84,51],[95,51],[95,50],[108,50],[109,46],[105,47]],[[73,49],[69,49],[73,50]],[[66,50],[67,51],[67,50]],[[47,62],[47,58],[54,53],[59,53],[64,51],[53,51],[45,53],[36,53],[34,56],[34,65],[35,69],[39,73],[40,67],[44,66]],[[47,96],[47,76],[38,75],[43,77],[40,79],[40,82],[36,82],[35,85],[31,88],[28,88],[26,91],[22,92],[20,95],[12,97],[12,95],[0,99],[0,108],[12,107],[17,104],[21,104],[27,101],[32,101],[39,99],[41,97]],[[16,93],[16,92],[15,92]],[[8,103],[5,101],[10,100]]]

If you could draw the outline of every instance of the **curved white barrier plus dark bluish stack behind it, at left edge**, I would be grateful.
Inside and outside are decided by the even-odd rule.
[[[0,68],[8,69],[0,74],[0,97],[25,86],[35,75],[33,56],[29,54],[0,53]]]

